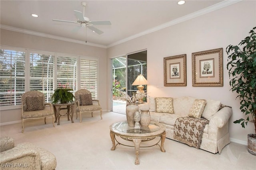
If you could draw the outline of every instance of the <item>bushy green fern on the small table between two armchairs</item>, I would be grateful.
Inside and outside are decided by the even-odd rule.
[[[73,91],[71,88],[56,88],[52,94],[52,103],[66,104],[74,101],[74,95],[70,92]]]

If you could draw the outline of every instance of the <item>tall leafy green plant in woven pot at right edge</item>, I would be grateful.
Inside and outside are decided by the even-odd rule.
[[[248,151],[256,155],[256,27],[238,45],[229,45],[226,48],[228,56],[228,74],[232,92],[240,98],[240,110],[246,119],[239,119],[242,127],[249,121],[254,123],[255,134],[248,134]]]

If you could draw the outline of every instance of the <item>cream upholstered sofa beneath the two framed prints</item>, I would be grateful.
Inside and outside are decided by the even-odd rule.
[[[139,109],[149,109],[152,122],[161,123],[166,128],[166,137],[174,139],[174,124],[178,117],[188,116],[189,110],[196,98],[184,96],[172,99],[174,114],[156,112],[156,100],[149,97],[148,102],[140,104]],[[202,117],[209,120],[204,128],[200,149],[217,153],[230,143],[228,119],[232,115],[230,107],[223,107],[218,100],[206,100]]]

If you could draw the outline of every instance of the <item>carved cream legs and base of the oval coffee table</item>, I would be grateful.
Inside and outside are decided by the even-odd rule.
[[[110,131],[110,137],[111,137],[111,141],[112,141],[112,148],[110,150],[115,150],[116,149],[116,145],[123,145],[121,143],[119,143],[116,138],[115,138],[115,135],[112,131]],[[140,161],[139,161],[139,151],[140,151],[140,143],[142,141],[150,141],[152,140],[152,138],[136,138],[136,137],[129,137],[129,138],[126,138],[126,137],[122,137],[121,135],[118,135],[120,136],[122,139],[125,139],[125,140],[128,140],[130,141],[130,139],[132,139],[133,143],[134,143],[134,149],[135,149],[135,155],[136,155],[136,158],[135,158],[135,164],[136,165],[139,165],[140,164]],[[161,137],[161,146],[160,146],[160,149],[162,152],[166,152],[165,149],[164,149],[164,141],[165,141],[165,138],[166,138],[166,132],[164,131],[164,133],[162,133],[161,135],[159,135]],[[117,141],[117,144],[115,144],[115,141]],[[159,143],[159,141],[158,141]],[[158,145],[158,143],[156,143],[155,145]],[[124,146],[128,146],[128,145],[124,145]],[[152,145],[154,146],[154,145]],[[149,146],[149,147],[152,147],[152,146]]]

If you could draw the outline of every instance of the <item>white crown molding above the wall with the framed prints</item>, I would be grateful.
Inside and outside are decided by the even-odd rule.
[[[213,11],[215,11],[215,10],[224,8],[224,7],[226,7],[226,6],[230,6],[230,5],[235,4],[235,3],[237,3],[237,2],[240,2],[240,1],[242,1],[242,0],[224,0],[223,2],[220,2],[220,3],[218,3],[218,4],[214,4],[214,5],[212,5],[212,6],[209,6],[209,7],[207,7],[207,8],[204,8],[204,9],[202,9],[202,10],[199,10],[199,11],[193,12],[193,13],[191,13],[191,14],[188,14],[188,15],[186,15],[186,16],[183,16],[183,17],[177,18],[177,19],[175,19],[175,20],[166,22],[166,23],[164,23],[164,24],[158,25],[158,26],[153,27],[153,28],[151,28],[151,29],[147,29],[146,31],[143,31],[143,32],[140,32],[140,33],[138,33],[138,34],[132,35],[132,36],[127,37],[127,38],[125,38],[125,39],[122,39],[122,40],[120,40],[120,41],[116,41],[115,43],[112,43],[112,44],[110,44],[110,45],[107,45],[107,48],[113,47],[113,46],[118,45],[118,44],[121,44],[121,43],[124,43],[124,42],[126,42],[126,41],[130,41],[130,40],[135,39],[135,38],[138,38],[138,37],[141,37],[142,35],[146,35],[146,34],[149,34],[149,33],[155,32],[155,31],[158,31],[158,30],[160,30],[160,29],[164,29],[164,28],[166,28],[166,27],[170,27],[170,26],[172,26],[172,25],[176,25],[176,24],[181,23],[181,22],[183,22],[183,21],[190,20],[190,19],[196,18],[196,17],[198,17],[198,16],[202,16],[202,15],[207,14],[207,13],[209,13],[209,12],[213,12]]]

